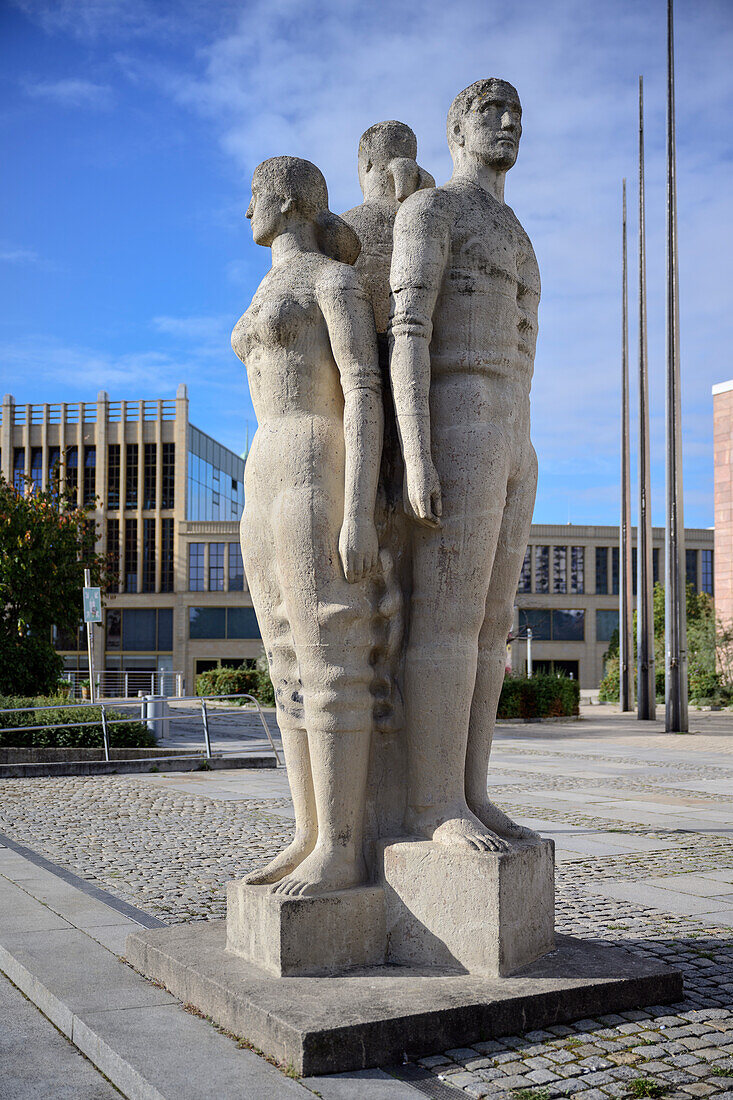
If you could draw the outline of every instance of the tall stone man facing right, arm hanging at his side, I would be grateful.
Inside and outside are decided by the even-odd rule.
[[[448,113],[453,174],[395,219],[391,377],[413,525],[405,663],[412,834],[473,850],[532,838],[486,771],[537,482],[532,244],[504,204],[522,108],[479,80]]]

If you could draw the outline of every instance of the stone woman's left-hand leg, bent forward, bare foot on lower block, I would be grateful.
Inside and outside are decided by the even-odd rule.
[[[275,689],[277,725],[295,811],[295,837],[291,844],[244,880],[252,886],[263,886],[277,882],[313,851],[318,824],[300,678],[275,566],[273,532],[264,509],[248,505],[242,518],[241,537],[244,572]]]

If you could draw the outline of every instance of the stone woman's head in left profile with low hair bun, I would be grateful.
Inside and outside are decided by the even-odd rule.
[[[258,165],[247,217],[255,244],[265,248],[299,221],[314,227],[318,248],[332,260],[352,264],[361,250],[351,227],[328,209],[322,173],[297,156],[273,156]]]

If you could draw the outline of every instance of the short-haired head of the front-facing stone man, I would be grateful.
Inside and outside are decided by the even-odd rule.
[[[453,163],[468,156],[507,172],[522,136],[522,105],[506,80],[477,80],[456,96],[448,111],[448,145]]]

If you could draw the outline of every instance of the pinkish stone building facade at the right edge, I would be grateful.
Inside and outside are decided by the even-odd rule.
[[[715,612],[733,624],[733,380],[713,386]]]

